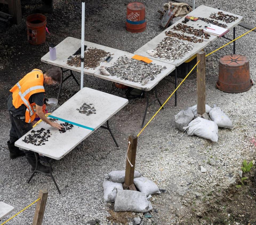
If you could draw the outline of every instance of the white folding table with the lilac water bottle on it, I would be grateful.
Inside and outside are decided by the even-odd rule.
[[[102,75],[100,73],[100,71],[99,71],[101,66],[105,66],[105,67],[112,66],[115,62],[117,62],[118,57],[120,57],[120,56],[127,56],[128,58],[132,58],[134,56],[133,53],[129,53],[129,52],[125,52],[125,51],[122,51],[122,50],[119,50],[119,49],[114,49],[114,48],[106,47],[106,46],[103,46],[103,45],[98,45],[98,44],[91,43],[91,42],[88,42],[88,41],[85,41],[85,45],[87,45],[87,49],[89,49],[89,48],[97,48],[97,49],[105,50],[106,52],[109,52],[111,57],[113,57],[113,58],[111,59],[110,62],[104,62],[104,61],[100,62],[99,66],[97,66],[94,69],[93,68],[88,68],[88,69],[85,68],[84,69],[84,74],[95,76],[97,78],[101,78],[101,79],[104,79],[104,80],[109,80],[109,81],[112,81],[112,82],[117,82],[117,83],[120,83],[120,84],[124,84],[124,85],[126,85],[128,87],[137,88],[137,89],[143,90],[145,92],[146,98],[147,98],[147,102],[146,102],[146,108],[145,108],[145,112],[144,112],[143,119],[142,119],[142,125],[141,126],[143,126],[148,107],[151,104],[153,104],[155,101],[158,101],[158,103],[162,106],[162,103],[161,103],[161,101],[160,101],[160,99],[158,98],[158,95],[157,95],[157,87],[156,87],[157,84],[163,78],[168,76],[172,71],[174,71],[175,70],[175,66],[171,65],[171,64],[169,64],[167,62],[160,62],[158,60],[151,59],[152,63],[154,63],[156,65],[160,65],[160,66],[165,66],[166,69],[162,70],[161,73],[157,74],[155,79],[150,80],[145,85],[142,85],[141,83],[120,79],[120,78],[118,78],[116,76],[111,76],[111,75],[110,76],[105,76],[105,75]],[[60,66],[62,68],[70,70],[71,71],[71,75],[66,77],[63,80],[63,82],[64,82],[70,76],[74,77],[74,75],[72,73],[72,70],[81,73],[81,66],[80,67],[76,67],[76,66],[70,66],[70,65],[67,64],[68,58],[72,54],[74,54],[80,47],[81,47],[81,40],[80,39],[77,39],[77,38],[74,38],[74,37],[67,37],[66,39],[64,39],[61,43],[59,43],[56,46],[56,51],[57,51],[57,58],[56,58],[56,60],[50,60],[50,54],[48,52],[47,54],[45,54],[45,56],[43,56],[41,58],[41,61],[45,62],[45,63],[49,63],[49,64],[54,65],[54,66]],[[65,72],[65,71],[63,71],[63,72]],[[59,88],[59,94],[60,94],[60,91],[61,91],[61,87],[62,87],[62,83],[61,83],[60,88]],[[151,101],[151,103],[149,103],[149,94],[148,93],[153,88],[154,88],[154,92],[155,92],[155,98],[154,98],[153,101]],[[58,94],[58,98],[59,98],[59,94]]]

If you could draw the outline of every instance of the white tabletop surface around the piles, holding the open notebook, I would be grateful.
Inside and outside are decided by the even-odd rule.
[[[201,5],[199,7],[197,7],[195,10],[193,10],[192,12],[189,13],[189,15],[191,16],[195,16],[195,17],[203,17],[203,18],[207,18],[207,19],[211,19],[209,16],[211,13],[215,12],[218,13],[219,9],[214,9],[205,5]],[[226,11],[222,11],[225,14],[229,14],[229,15],[234,15],[237,16],[238,19],[232,23],[225,23],[221,20],[217,20],[219,23],[223,23],[227,25],[227,29],[233,29],[233,27],[237,26],[242,20],[243,17],[236,15],[236,14],[232,14],[230,12],[226,12]],[[170,62],[167,60],[161,60],[159,57],[155,58],[153,56],[150,56],[149,54],[146,53],[147,50],[151,50],[151,49],[155,49],[157,47],[157,45],[165,38],[167,37],[165,35],[165,31],[173,31],[175,33],[181,33],[184,34],[186,36],[193,36],[187,33],[182,33],[180,31],[174,31],[172,28],[177,25],[178,23],[181,23],[184,20],[185,16],[180,19],[179,21],[177,21],[176,23],[174,23],[173,25],[171,25],[170,27],[168,27],[167,29],[165,29],[163,32],[161,32],[159,35],[157,35],[156,37],[154,37],[152,40],[150,40],[148,43],[146,43],[145,45],[143,45],[141,48],[139,48],[138,50],[136,50],[134,52],[134,54],[138,54],[141,56],[146,56],[150,59],[155,59],[161,62],[166,62],[166,63],[170,63],[173,64],[175,66],[179,66],[181,65],[183,62],[185,62],[186,60],[190,59],[192,56],[194,56],[196,53],[198,53],[199,51],[201,51],[203,48],[205,48],[207,45],[209,45],[211,42],[217,40],[219,37],[211,35],[211,37],[209,39],[203,39],[204,41],[202,43],[192,43],[194,45],[194,48],[191,52],[187,53],[185,56],[183,56],[180,59],[175,60],[174,62]],[[202,20],[197,20],[197,21],[189,21],[186,23],[187,26],[193,26],[195,29],[204,29],[205,26],[208,26],[210,24],[202,21]],[[201,27],[200,27],[201,26]],[[230,31],[232,32],[232,31]],[[198,37],[199,38],[199,37]],[[181,40],[182,42],[187,42],[184,40]]]

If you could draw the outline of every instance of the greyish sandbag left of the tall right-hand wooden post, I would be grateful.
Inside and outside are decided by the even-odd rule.
[[[181,110],[176,114],[175,116],[175,125],[179,130],[183,131],[183,127],[189,125],[189,123],[194,118],[194,113],[192,111],[192,107],[189,107],[188,109]]]

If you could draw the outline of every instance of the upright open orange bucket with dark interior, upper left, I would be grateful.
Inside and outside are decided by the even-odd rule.
[[[31,45],[45,43],[46,16],[31,14],[26,18],[27,40]]]

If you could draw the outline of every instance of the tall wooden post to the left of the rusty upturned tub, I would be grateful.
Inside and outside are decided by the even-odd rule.
[[[205,113],[205,52],[197,53],[197,114]]]

